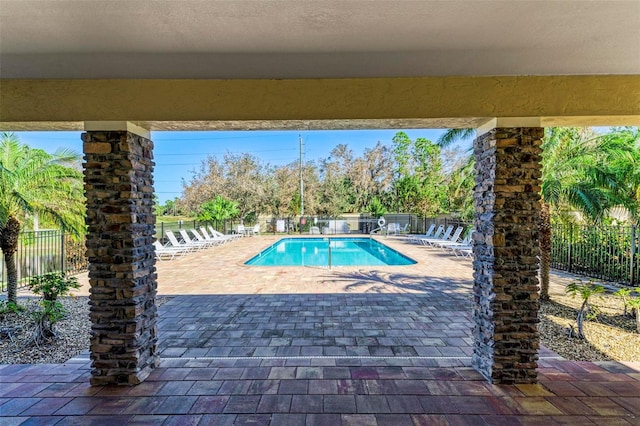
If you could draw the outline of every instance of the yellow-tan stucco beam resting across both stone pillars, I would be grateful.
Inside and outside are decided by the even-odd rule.
[[[640,125],[640,76],[305,80],[0,80],[0,128],[149,130],[479,127],[493,117],[542,126]]]

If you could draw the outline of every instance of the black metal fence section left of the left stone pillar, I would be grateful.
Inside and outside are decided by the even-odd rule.
[[[0,291],[6,291],[7,271],[1,253],[0,260]],[[88,268],[84,240],[60,230],[22,232],[15,260],[19,287],[25,287],[35,275],[57,271],[77,274]]]

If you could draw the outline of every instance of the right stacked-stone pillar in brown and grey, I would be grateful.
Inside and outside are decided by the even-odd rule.
[[[537,382],[542,128],[474,142],[473,365],[492,383]]]

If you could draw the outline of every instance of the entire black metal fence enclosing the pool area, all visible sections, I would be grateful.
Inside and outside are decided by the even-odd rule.
[[[340,217],[304,217],[261,219],[263,233],[360,233],[378,227],[379,218],[368,215]],[[422,219],[410,214],[387,214],[385,221],[421,234],[431,224],[470,226],[469,222],[451,218]],[[200,223],[197,221],[159,222],[156,236],[164,239],[171,229],[199,228],[212,225],[223,233],[232,233],[237,221]],[[315,228],[315,229],[314,229]],[[59,230],[27,231],[20,235],[16,252],[18,282],[25,286],[29,277],[53,271],[75,274],[86,271],[84,240],[76,241]],[[4,256],[0,255],[0,291],[6,291]],[[640,229],[637,226],[554,225],[552,229],[551,267],[621,284],[640,286]]]

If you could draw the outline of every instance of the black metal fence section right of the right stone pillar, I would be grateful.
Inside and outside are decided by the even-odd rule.
[[[551,267],[630,286],[640,285],[637,226],[554,225]]]

